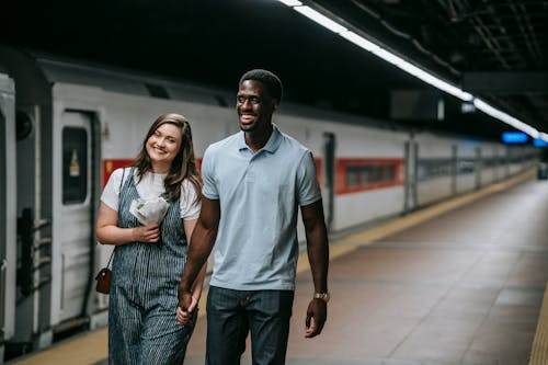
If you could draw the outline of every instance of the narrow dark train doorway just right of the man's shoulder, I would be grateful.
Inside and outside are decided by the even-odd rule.
[[[326,225],[331,231],[334,218],[334,189],[335,189],[335,135],[323,134],[323,190],[326,192]]]

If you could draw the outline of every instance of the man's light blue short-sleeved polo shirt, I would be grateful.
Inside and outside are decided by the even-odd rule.
[[[317,202],[321,193],[310,150],[273,127],[256,153],[246,145],[243,132],[204,153],[203,194],[220,203],[210,285],[295,288],[298,207]]]

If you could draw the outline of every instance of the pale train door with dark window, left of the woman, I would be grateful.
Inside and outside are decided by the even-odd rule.
[[[53,322],[84,317],[93,265],[92,115],[64,111],[55,129],[60,147],[54,155]],[[60,179],[59,179],[60,178]],[[59,190],[60,189],[60,190]]]

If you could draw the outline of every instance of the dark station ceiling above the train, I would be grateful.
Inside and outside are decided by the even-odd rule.
[[[301,1],[548,133],[548,0]],[[7,5],[4,44],[235,91],[242,72],[267,68],[282,78],[293,102],[390,118],[418,130],[490,139],[512,130],[481,112],[463,113],[456,98],[275,0],[19,0]],[[441,99],[442,118],[429,113],[432,100]],[[423,107],[400,115],[402,100]]]

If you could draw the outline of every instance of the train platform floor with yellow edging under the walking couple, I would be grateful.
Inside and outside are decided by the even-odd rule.
[[[328,322],[315,339],[305,339],[312,284],[299,258],[287,364],[548,364],[548,183],[535,178],[529,171],[333,239]],[[204,312],[189,365],[204,364]],[[106,357],[101,329],[8,364]]]

